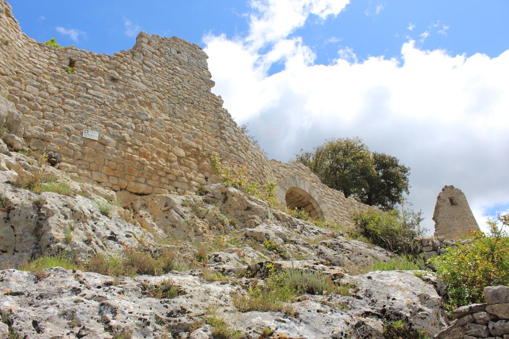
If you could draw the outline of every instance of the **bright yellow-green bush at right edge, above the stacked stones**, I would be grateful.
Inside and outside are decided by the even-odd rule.
[[[462,305],[484,302],[487,286],[509,286],[509,214],[488,221],[489,233],[474,231],[473,241],[449,248],[445,254],[430,258],[438,278],[448,286],[449,311]]]

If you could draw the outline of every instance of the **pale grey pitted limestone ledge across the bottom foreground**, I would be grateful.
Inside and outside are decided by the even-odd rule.
[[[352,296],[305,295],[282,312],[238,312],[232,295],[242,293],[249,279],[207,283],[200,271],[169,272],[162,276],[112,278],[92,272],[50,268],[44,275],[0,271],[0,312],[11,332],[30,338],[212,338],[203,319],[218,316],[248,338],[264,327],[275,337],[382,338],[384,326],[403,320],[413,329],[435,334],[444,317],[440,296],[412,272],[370,272],[345,280],[357,284]],[[151,290],[171,280],[178,293],[155,298]],[[44,312],[41,312],[44,310]]]

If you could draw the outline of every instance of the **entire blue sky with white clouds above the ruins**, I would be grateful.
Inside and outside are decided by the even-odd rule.
[[[446,184],[480,226],[509,210],[506,0],[10,4],[38,41],[112,54],[144,30],[202,46],[213,93],[269,158],[359,136],[411,167],[409,200],[429,229]]]

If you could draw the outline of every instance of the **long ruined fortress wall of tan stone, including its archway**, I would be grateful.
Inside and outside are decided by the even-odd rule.
[[[210,156],[219,155],[247,164],[260,182],[277,180],[281,203],[316,218],[349,225],[352,211],[369,208],[300,164],[269,161],[211,93],[197,45],[142,32],[112,56],[58,49],[23,34],[4,0],[0,39],[9,41],[0,44],[0,94],[20,119],[11,128],[32,150],[60,153],[71,176],[135,194],[195,192],[214,180]]]

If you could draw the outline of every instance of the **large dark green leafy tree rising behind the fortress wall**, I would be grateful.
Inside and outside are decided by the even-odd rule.
[[[358,137],[327,140],[296,161],[309,167],[328,187],[369,205],[390,210],[408,193],[410,168],[385,153],[371,152]]]

